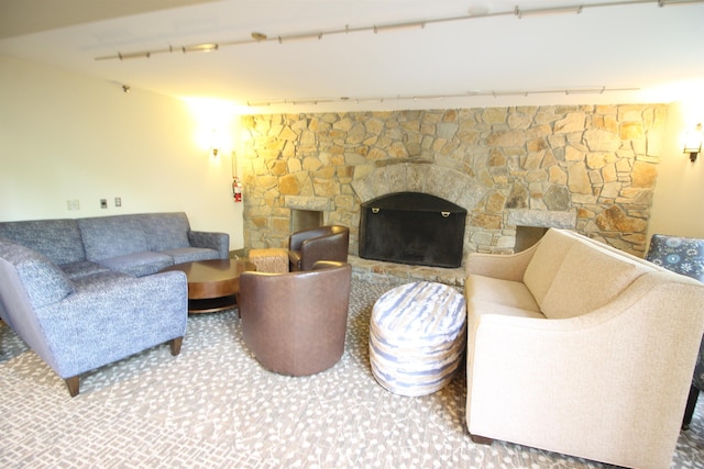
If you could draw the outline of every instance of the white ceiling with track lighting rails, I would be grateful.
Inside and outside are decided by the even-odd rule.
[[[0,0],[0,54],[249,113],[702,99],[704,3],[628,3]]]

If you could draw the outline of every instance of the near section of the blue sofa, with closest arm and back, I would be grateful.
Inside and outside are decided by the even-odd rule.
[[[0,239],[0,316],[64,379],[186,332],[188,287],[179,271],[69,280],[45,256]]]

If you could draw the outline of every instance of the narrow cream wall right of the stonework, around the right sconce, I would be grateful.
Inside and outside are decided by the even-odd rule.
[[[704,99],[670,104],[648,233],[704,238],[704,155],[691,163],[683,136],[704,123]]]

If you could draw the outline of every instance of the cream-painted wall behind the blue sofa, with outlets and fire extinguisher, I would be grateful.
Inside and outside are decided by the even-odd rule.
[[[185,211],[193,228],[243,246],[233,145],[213,158],[210,123],[186,102],[0,56],[0,221]],[[224,121],[228,141],[239,119]]]

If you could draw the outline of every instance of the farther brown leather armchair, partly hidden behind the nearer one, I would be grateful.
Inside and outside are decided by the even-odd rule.
[[[318,260],[348,261],[350,228],[342,225],[302,230],[288,238],[290,271],[310,270]]]

